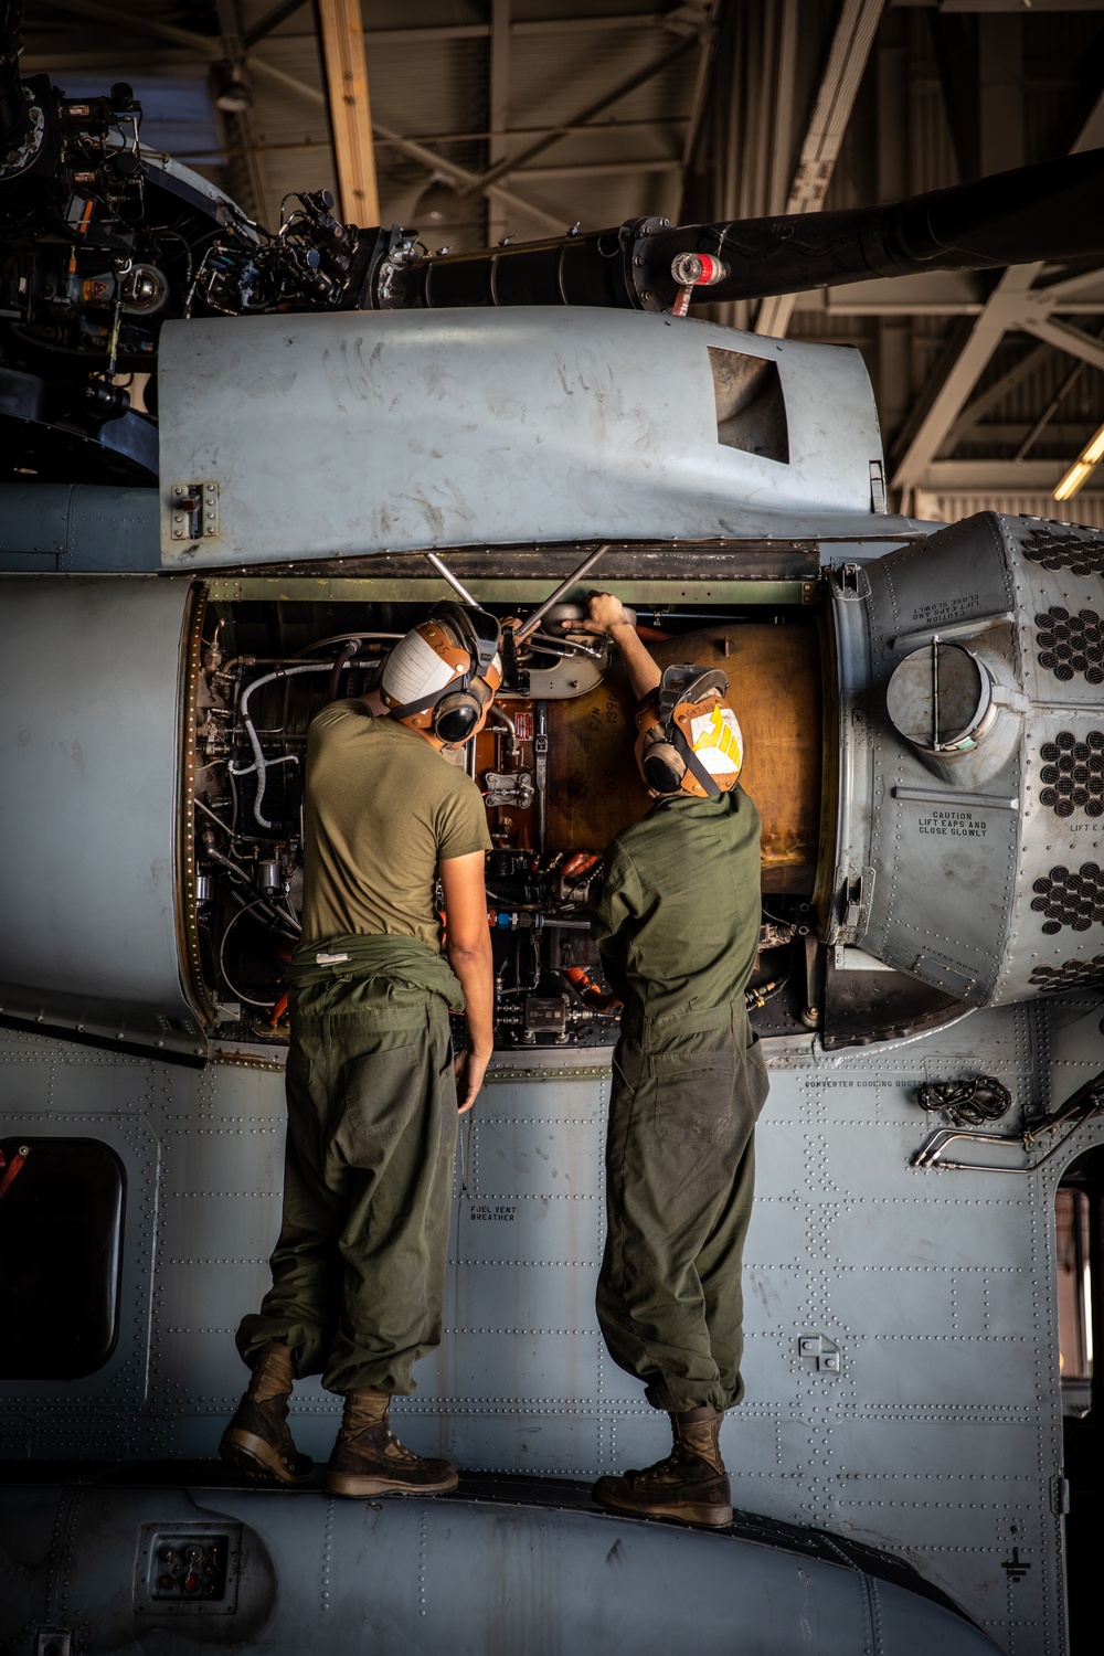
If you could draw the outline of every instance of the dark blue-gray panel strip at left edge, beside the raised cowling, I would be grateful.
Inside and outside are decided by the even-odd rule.
[[[0,484],[0,570],[161,568],[156,489]]]

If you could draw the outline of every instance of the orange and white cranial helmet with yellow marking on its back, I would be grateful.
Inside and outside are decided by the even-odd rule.
[[[715,798],[737,785],[743,737],[718,667],[667,667],[637,709],[636,760],[650,793]]]

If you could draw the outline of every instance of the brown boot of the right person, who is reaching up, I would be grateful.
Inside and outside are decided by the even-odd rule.
[[[624,1477],[599,1477],[593,1499],[599,1507],[637,1519],[679,1519],[710,1528],[732,1524],[728,1474],[718,1442],[723,1418],[708,1404],[672,1414],[674,1447],[667,1459]]]

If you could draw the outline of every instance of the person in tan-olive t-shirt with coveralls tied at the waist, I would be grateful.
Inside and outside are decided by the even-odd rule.
[[[321,1373],[344,1396],[329,1494],[457,1484],[449,1461],[394,1437],[389,1403],[440,1343],[457,1108],[475,1101],[493,1042],[487,811],[444,749],[482,729],[497,647],[492,616],[442,604],[396,644],[382,699],[333,702],[311,722],[283,1224],[271,1288],[238,1328],[253,1378],[220,1444],[253,1480],[310,1475],[288,1399],[293,1378]],[[465,1002],[454,1066],[449,1012]]]

